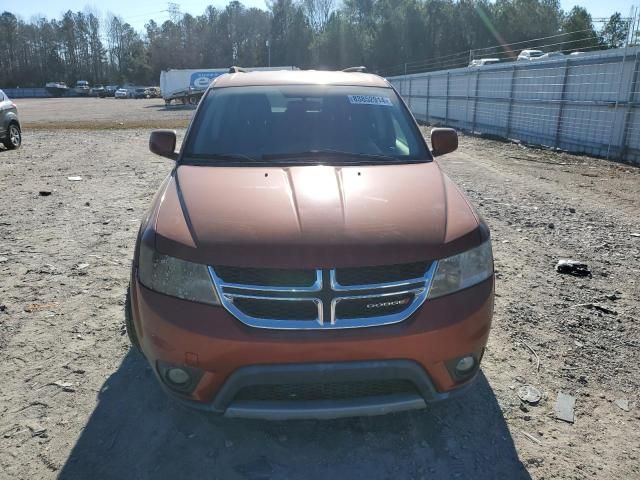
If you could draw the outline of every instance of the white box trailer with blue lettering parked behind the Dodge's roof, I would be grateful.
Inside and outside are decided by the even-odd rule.
[[[163,70],[160,72],[160,92],[166,105],[176,103],[196,105],[216,77],[234,68],[199,68]],[[296,67],[256,67],[244,70],[295,70]]]

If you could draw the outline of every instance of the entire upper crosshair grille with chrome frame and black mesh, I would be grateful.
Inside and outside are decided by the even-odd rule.
[[[425,301],[437,262],[335,270],[210,267],[222,305],[243,323],[332,329],[406,320]]]

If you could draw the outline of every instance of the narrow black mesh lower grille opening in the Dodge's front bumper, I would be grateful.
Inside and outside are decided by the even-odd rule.
[[[394,394],[418,393],[409,380],[370,380],[282,385],[251,385],[241,388],[234,400],[313,401],[351,400]]]

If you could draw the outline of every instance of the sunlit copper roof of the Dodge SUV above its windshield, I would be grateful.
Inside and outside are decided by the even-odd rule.
[[[360,72],[327,72],[321,70],[270,70],[228,73],[219,76],[212,88],[257,85],[351,85],[387,87],[389,82],[378,75]]]

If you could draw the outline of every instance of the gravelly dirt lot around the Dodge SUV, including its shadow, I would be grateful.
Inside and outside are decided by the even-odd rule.
[[[54,102],[97,128],[46,129]],[[386,417],[227,421],[167,399],[122,334],[138,222],[172,167],[148,132],[189,111],[18,106],[23,148],[0,151],[0,478],[640,478],[639,169],[462,138],[441,164],[492,228],[498,295],[470,394]],[[556,273],[560,258],[593,277]],[[575,423],[554,418],[558,392]]]

